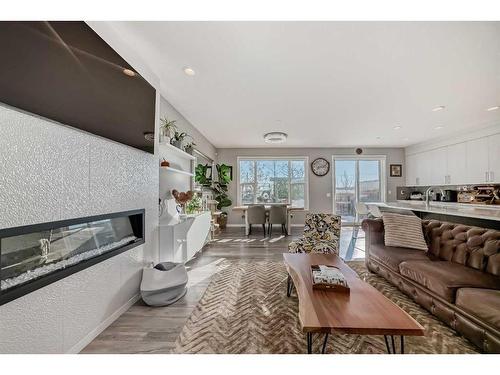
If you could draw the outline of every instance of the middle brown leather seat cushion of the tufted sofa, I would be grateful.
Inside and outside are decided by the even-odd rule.
[[[405,261],[399,272],[450,303],[459,288],[500,289],[500,277],[448,261]]]

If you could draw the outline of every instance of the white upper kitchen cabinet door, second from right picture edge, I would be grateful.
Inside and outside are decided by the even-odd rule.
[[[467,141],[466,183],[488,182],[488,138]]]

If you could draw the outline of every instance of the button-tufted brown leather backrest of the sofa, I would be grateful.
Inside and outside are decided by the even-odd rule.
[[[429,252],[435,257],[500,276],[500,231],[422,220]]]

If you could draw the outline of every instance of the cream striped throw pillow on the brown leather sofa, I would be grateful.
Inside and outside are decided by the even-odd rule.
[[[382,220],[385,246],[428,250],[422,232],[422,220],[419,217],[385,212]]]

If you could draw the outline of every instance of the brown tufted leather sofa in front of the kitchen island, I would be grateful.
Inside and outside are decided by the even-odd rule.
[[[369,270],[483,352],[500,353],[500,230],[424,220],[424,252],[385,246],[382,219],[362,226]]]

